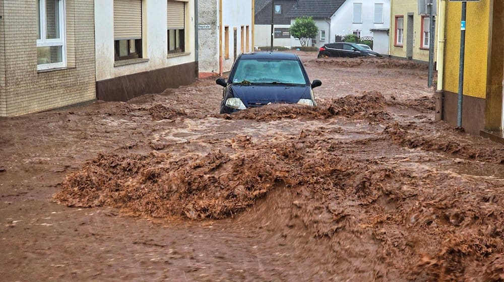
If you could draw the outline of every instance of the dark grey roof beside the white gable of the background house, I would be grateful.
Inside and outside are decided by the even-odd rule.
[[[287,13],[288,18],[309,16],[316,19],[330,18],[345,0],[299,0]]]

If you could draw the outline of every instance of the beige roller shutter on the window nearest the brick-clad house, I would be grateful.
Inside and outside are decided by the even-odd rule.
[[[142,0],[114,0],[114,40],[142,39]]]

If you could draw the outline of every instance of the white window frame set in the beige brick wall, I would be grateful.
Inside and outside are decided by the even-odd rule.
[[[38,47],[61,46],[61,62],[37,64],[37,70],[66,67],[67,66],[67,42],[66,42],[66,15],[65,15],[65,0],[57,0],[59,3],[59,38],[47,39],[47,11],[46,1],[37,0],[39,3],[39,23],[40,39],[37,39]]]

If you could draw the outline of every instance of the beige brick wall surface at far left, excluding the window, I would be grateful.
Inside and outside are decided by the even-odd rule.
[[[93,100],[95,93],[94,0],[65,0],[69,68],[37,71],[35,1],[2,0],[0,43],[5,52],[5,97],[0,115],[15,116]],[[1,9],[1,8],[0,8]],[[0,40],[2,41],[2,40]],[[0,62],[0,87],[2,87]]]

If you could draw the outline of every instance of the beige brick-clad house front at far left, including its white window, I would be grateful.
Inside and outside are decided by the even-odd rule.
[[[0,116],[96,99],[93,0],[0,1]]]

